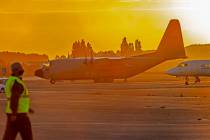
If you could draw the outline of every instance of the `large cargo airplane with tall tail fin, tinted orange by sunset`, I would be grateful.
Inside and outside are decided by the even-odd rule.
[[[155,52],[125,58],[71,58],[52,60],[48,66],[35,71],[35,75],[49,79],[52,84],[60,80],[94,80],[111,83],[142,73],[164,61],[186,58],[179,20],[170,21]]]

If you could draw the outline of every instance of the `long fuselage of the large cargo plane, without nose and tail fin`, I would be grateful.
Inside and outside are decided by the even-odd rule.
[[[153,57],[65,59],[53,60],[43,78],[53,80],[127,79],[160,64],[164,59]],[[45,76],[44,76],[45,75]]]

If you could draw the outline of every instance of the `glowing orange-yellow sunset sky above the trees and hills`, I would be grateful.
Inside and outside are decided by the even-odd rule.
[[[0,2],[0,51],[67,54],[75,40],[94,50],[117,50],[121,39],[156,49],[171,18],[179,18],[185,44],[208,43],[207,0],[8,0]],[[202,4],[203,3],[203,4]],[[207,23],[205,21],[208,21]],[[204,24],[206,23],[206,24]],[[200,25],[200,26],[199,26]]]

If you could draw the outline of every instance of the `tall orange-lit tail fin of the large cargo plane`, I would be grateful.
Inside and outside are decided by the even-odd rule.
[[[156,53],[165,59],[186,58],[179,20],[170,21]]]

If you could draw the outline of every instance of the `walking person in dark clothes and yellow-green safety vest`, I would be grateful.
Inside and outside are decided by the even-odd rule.
[[[5,87],[7,125],[3,140],[15,140],[18,133],[22,140],[33,140],[28,113],[34,111],[30,108],[29,92],[22,80],[24,69],[20,63],[13,63],[11,71]]]

